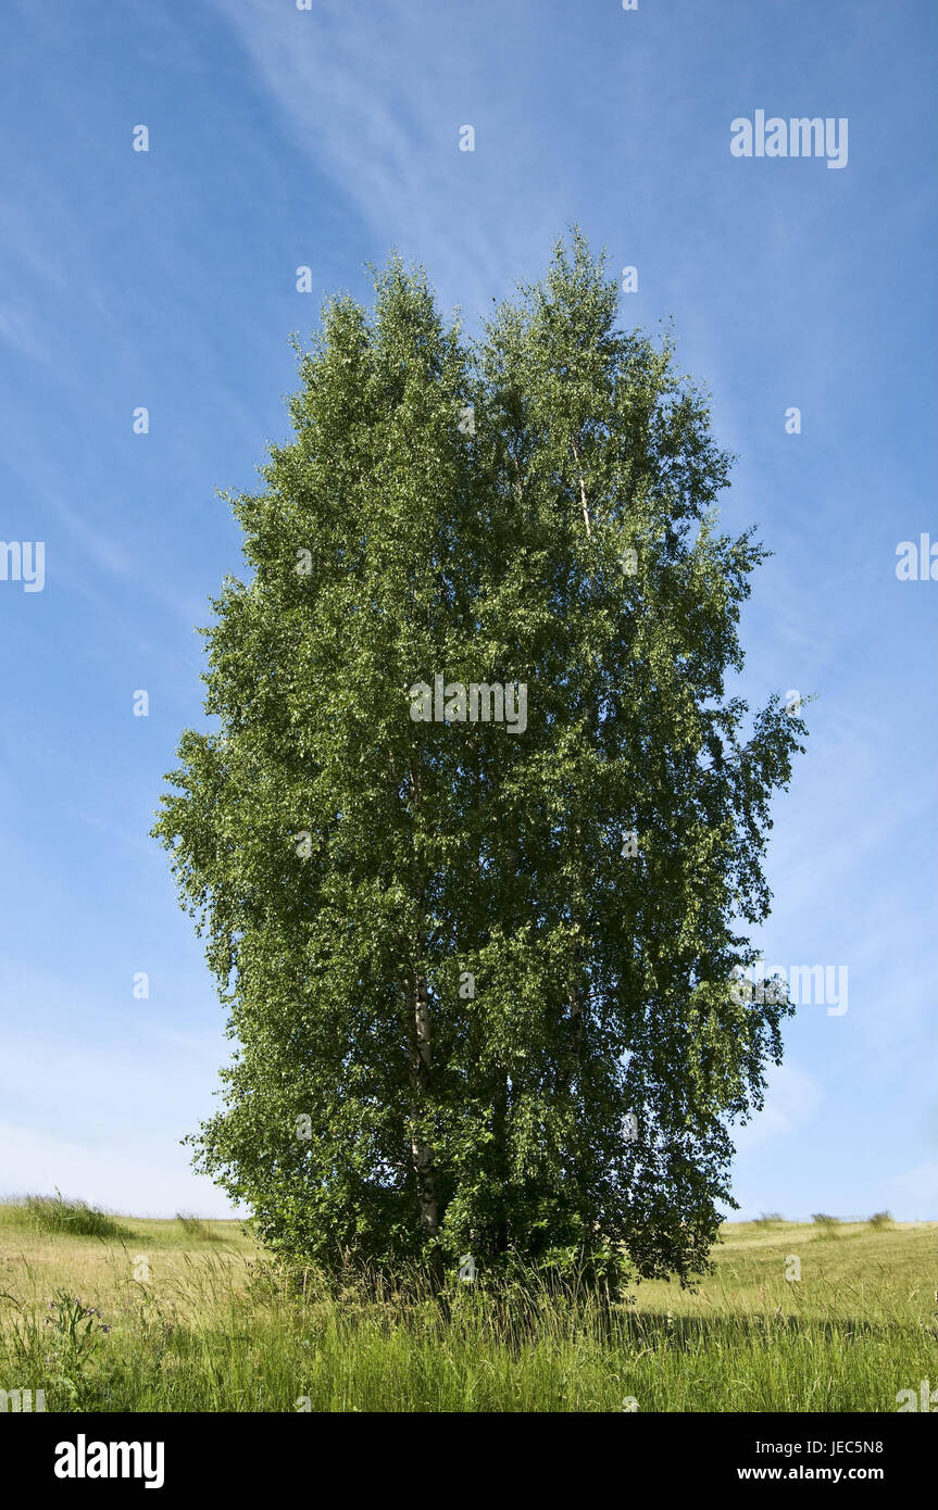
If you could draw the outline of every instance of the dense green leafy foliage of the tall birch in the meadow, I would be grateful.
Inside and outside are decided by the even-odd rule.
[[[764,551],[616,297],[574,234],[470,346],[391,260],[231,500],[218,726],[156,834],[239,1045],[196,1163],[290,1258],[684,1280],[733,1205],[790,1010],[733,972],[804,725],[725,692]],[[414,722],[435,675],[526,684],[526,731]]]

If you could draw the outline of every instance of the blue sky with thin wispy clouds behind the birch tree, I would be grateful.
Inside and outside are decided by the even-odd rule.
[[[674,320],[739,455],[724,522],[775,553],[745,690],[817,698],[760,944],[846,965],[849,1007],[788,1024],[740,1214],[938,1216],[938,581],[896,577],[938,542],[936,42],[930,0],[8,0],[0,538],[45,584],[0,581],[0,1191],[228,1213],[178,1145],[224,1013],[147,838],[240,571],[214,489],[367,261],[424,261],[471,326],[580,222],[639,270],[624,323]],[[847,165],[734,157],[755,110],[846,118]]]

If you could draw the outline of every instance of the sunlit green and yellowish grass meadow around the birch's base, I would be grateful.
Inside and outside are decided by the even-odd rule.
[[[455,1282],[444,1315],[290,1296],[237,1222],[98,1217],[0,1205],[0,1389],[47,1410],[894,1412],[938,1386],[938,1223],[728,1223],[695,1293],[532,1284],[506,1312]]]

